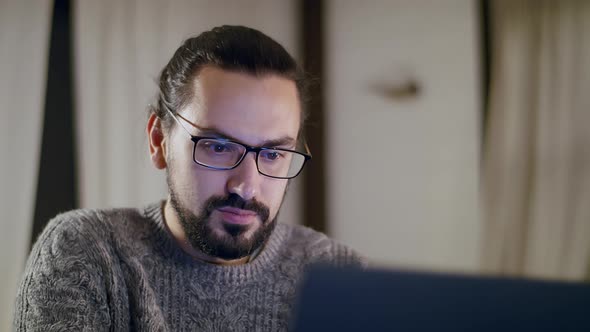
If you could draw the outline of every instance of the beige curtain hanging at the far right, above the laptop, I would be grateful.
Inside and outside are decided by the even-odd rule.
[[[579,280],[590,263],[590,1],[490,3],[483,264]]]

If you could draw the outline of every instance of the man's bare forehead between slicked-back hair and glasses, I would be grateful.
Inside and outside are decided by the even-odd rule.
[[[193,89],[194,98],[184,115],[199,127],[251,145],[297,139],[301,105],[292,80],[205,67]]]

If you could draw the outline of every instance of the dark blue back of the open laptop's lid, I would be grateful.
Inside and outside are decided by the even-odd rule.
[[[293,331],[590,331],[590,284],[313,266]]]

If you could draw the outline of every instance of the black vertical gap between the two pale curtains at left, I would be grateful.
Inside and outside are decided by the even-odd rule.
[[[49,219],[78,206],[69,0],[55,0],[49,46],[34,242]]]

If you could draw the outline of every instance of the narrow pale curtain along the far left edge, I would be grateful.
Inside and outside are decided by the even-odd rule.
[[[0,331],[29,253],[52,3],[0,0]]]

